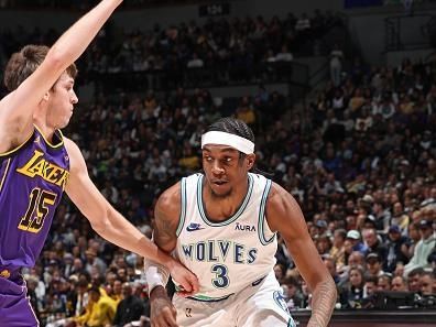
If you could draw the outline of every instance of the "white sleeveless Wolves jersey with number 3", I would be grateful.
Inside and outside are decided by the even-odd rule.
[[[203,174],[182,179],[182,214],[176,257],[199,280],[194,297],[216,301],[265,276],[275,264],[277,241],[265,220],[271,181],[249,174],[249,188],[238,211],[221,222],[206,217]]]

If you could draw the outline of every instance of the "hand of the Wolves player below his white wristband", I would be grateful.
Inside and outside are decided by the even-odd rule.
[[[178,327],[176,315],[177,312],[165,288],[162,286],[154,287],[150,294],[151,327]]]

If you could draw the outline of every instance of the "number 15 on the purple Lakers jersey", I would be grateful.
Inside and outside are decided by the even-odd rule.
[[[29,196],[29,206],[24,217],[18,226],[19,229],[39,232],[43,225],[44,219],[48,215],[48,207],[53,206],[56,201],[56,194],[35,187]]]

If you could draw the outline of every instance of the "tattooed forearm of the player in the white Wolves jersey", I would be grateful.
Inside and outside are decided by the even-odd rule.
[[[331,279],[320,283],[313,293],[312,317],[307,327],[327,327],[337,298],[336,285]]]

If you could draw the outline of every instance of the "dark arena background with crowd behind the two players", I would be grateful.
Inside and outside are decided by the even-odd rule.
[[[97,2],[0,0],[0,74]],[[201,131],[244,120],[337,284],[331,326],[435,326],[435,46],[434,1],[126,0],[77,62],[65,133],[151,236],[160,193],[201,168]],[[276,258],[305,326],[310,290],[283,241]],[[66,197],[25,277],[42,326],[149,324],[141,258],[95,235]]]

